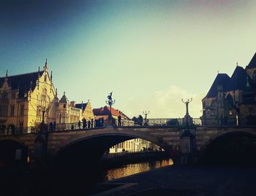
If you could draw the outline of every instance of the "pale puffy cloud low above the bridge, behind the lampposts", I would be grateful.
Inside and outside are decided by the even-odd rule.
[[[189,93],[176,85],[171,85],[167,90],[155,91],[150,96],[141,98],[128,98],[124,105],[124,113],[129,117],[137,117],[143,111],[150,111],[148,118],[175,118],[184,117],[186,106],[182,103],[181,98],[187,101],[193,98],[189,103],[189,114],[192,117],[200,117],[202,112],[202,98],[205,93]]]

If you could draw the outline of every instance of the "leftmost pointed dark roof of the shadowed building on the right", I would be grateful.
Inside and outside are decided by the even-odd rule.
[[[229,82],[230,82],[230,77],[227,76],[227,74],[218,74],[217,77],[214,79],[214,83],[211,85],[211,88],[208,91],[206,97],[207,98],[216,97],[218,85],[222,85],[223,91],[226,91],[229,85]]]

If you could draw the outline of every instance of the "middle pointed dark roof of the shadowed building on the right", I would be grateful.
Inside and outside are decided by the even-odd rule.
[[[244,68],[236,66],[232,77],[230,78],[227,90],[244,90],[246,88],[247,74]]]

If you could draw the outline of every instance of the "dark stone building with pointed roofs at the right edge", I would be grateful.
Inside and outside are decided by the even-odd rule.
[[[256,53],[232,77],[217,74],[203,102],[203,125],[256,125]]]

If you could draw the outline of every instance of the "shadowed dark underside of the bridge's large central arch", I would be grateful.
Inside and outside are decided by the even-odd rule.
[[[60,146],[53,157],[55,176],[62,176],[59,180],[63,180],[63,184],[68,179],[78,178],[79,176],[83,179],[79,182],[83,182],[80,187],[84,187],[84,184],[90,187],[90,184],[99,180],[102,175],[102,167],[104,167],[100,162],[102,155],[115,144],[132,138],[143,138],[157,144],[162,149],[168,150],[168,147],[170,148],[161,140],[158,141],[157,137],[141,136],[136,132],[133,134],[121,133],[113,129],[110,132],[101,130],[98,133],[91,133],[91,135],[81,133],[80,137],[71,138],[66,144]],[[88,133],[90,132],[88,131]],[[67,176],[69,176],[68,179]]]

